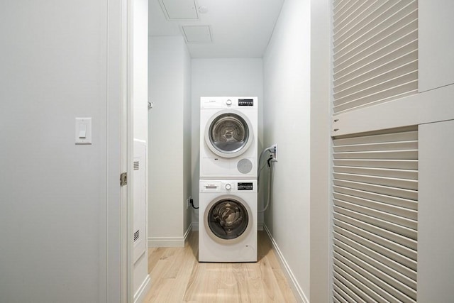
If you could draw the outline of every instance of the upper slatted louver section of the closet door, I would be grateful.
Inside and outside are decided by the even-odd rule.
[[[418,90],[418,2],[333,1],[333,112]]]

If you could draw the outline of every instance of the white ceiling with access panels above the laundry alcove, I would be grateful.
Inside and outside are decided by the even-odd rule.
[[[194,58],[262,57],[283,2],[150,0],[148,34],[183,36]]]

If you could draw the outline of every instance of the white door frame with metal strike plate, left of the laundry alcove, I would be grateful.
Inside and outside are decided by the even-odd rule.
[[[100,209],[99,302],[133,302],[132,0],[107,0],[107,199]],[[126,172],[128,185],[120,186]],[[104,222],[104,223],[102,223]]]

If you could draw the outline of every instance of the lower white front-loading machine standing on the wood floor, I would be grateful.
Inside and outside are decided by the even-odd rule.
[[[257,180],[200,180],[199,262],[257,262]]]

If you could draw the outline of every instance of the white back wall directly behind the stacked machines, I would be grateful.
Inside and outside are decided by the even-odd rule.
[[[200,97],[257,96],[258,147],[262,148],[263,72],[262,59],[192,59],[192,197],[199,205]],[[260,204],[259,204],[260,205]],[[198,210],[192,224],[197,226]],[[259,217],[259,224],[263,222]]]

